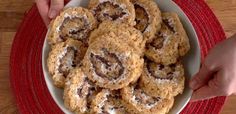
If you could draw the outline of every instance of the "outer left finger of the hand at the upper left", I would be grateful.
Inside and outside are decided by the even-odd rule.
[[[39,10],[39,13],[43,19],[43,22],[46,26],[48,26],[50,19],[48,17],[48,11],[49,11],[49,1],[48,0],[35,0],[37,3],[37,7]]]

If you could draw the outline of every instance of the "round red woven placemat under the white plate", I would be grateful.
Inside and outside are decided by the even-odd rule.
[[[220,23],[203,0],[175,0],[189,17],[197,32],[202,59],[219,41],[225,39]],[[15,36],[10,75],[19,112],[22,114],[61,114],[47,89],[42,71],[42,47],[47,29],[34,5],[25,15]],[[217,114],[225,97],[189,103],[183,114]]]

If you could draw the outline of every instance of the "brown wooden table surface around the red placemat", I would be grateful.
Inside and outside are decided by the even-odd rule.
[[[236,0],[206,0],[227,37],[236,33]],[[9,82],[9,56],[13,38],[34,0],[0,0],[0,114],[18,113]],[[228,97],[221,114],[236,114],[236,96]]]

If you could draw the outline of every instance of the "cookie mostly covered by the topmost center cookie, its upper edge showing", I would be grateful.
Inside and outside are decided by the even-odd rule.
[[[93,43],[99,38],[99,36],[109,32],[116,34],[118,39],[121,39],[124,43],[127,43],[129,46],[133,47],[137,53],[143,55],[146,42],[142,33],[134,27],[123,23],[104,21],[99,25],[98,29],[95,29],[93,32],[91,32],[89,44]]]

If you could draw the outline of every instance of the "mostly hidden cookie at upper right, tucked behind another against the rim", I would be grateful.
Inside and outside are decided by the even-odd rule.
[[[165,12],[162,13],[163,23],[167,25],[169,30],[174,34],[178,40],[178,51],[180,56],[184,56],[190,49],[190,43],[186,31],[180,19],[176,13],[173,12]]]

